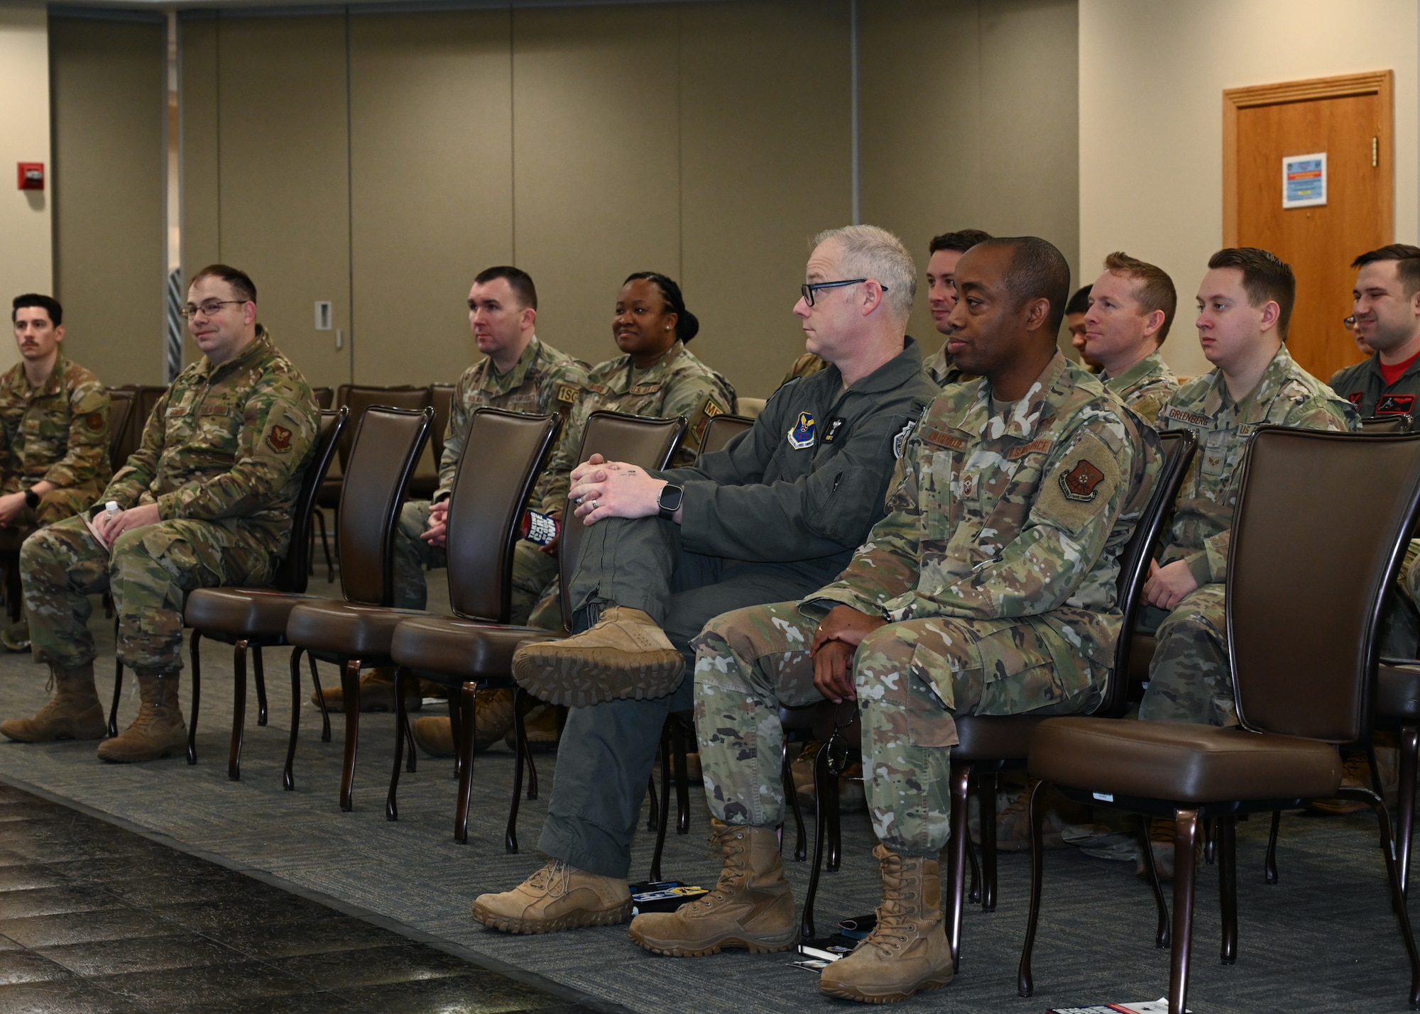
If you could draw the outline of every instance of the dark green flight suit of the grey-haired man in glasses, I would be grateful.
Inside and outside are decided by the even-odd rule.
[[[642,609],[690,658],[711,616],[822,587],[882,517],[895,450],[934,393],[912,339],[846,389],[836,366],[785,383],[743,437],[657,473],[684,489],[680,524],[608,518],[586,530],[569,589],[577,628],[608,605]],[[692,706],[687,679],[657,700],[574,707],[538,849],[626,876],[660,729]]]

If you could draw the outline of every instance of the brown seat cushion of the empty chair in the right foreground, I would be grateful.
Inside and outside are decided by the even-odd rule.
[[[1031,740],[1030,771],[1095,792],[1179,802],[1329,798],[1340,754],[1295,736],[1186,721],[1045,719]]]

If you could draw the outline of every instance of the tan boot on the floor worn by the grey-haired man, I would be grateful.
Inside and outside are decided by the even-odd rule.
[[[513,890],[479,895],[476,922],[506,933],[554,933],[578,926],[615,926],[630,917],[625,881],[588,873],[561,859],[548,863]]]

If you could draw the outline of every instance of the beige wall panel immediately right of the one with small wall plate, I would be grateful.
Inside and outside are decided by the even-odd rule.
[[[508,31],[506,10],[351,17],[361,381],[453,381],[479,358],[469,285],[513,261]]]

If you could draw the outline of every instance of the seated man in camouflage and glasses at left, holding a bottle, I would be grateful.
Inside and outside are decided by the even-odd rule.
[[[104,490],[116,501],[31,535],[20,551],[30,632],[54,696],[30,719],[0,723],[21,743],[98,740],[89,595],[118,612],[118,658],[136,675],[138,717],[104,741],[109,761],[166,757],[183,746],[178,704],[183,602],[195,588],[264,585],[291,537],[291,511],[320,415],[300,371],[257,324],[256,285],[204,267],[183,315],[203,356],[158,400],[138,450]]]

